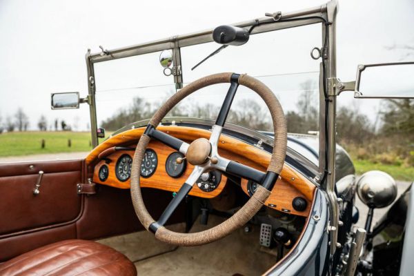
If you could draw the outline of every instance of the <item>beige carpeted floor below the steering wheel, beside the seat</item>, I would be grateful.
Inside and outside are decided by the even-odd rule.
[[[208,226],[195,224],[191,232],[219,224],[210,216]],[[276,263],[276,257],[260,251],[259,226],[251,226],[204,246],[180,247],[169,253],[135,262],[138,275],[261,275]]]

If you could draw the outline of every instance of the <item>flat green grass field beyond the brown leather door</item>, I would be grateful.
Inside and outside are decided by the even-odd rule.
[[[45,139],[46,147],[41,148],[41,140]],[[68,139],[72,146],[68,147]],[[90,132],[10,132],[0,134],[0,157],[37,155],[56,152],[89,151]]]

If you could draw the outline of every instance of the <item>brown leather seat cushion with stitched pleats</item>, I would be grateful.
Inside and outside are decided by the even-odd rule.
[[[0,275],[135,276],[130,260],[97,242],[69,239],[37,248],[0,264]]]

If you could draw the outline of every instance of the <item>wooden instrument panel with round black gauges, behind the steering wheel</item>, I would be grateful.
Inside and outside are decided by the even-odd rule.
[[[116,188],[130,188],[132,159],[134,152],[116,150],[101,159],[95,166],[92,181]],[[169,190],[177,193],[193,170],[193,165],[186,161],[186,156],[168,146],[153,141],[144,152],[139,167],[141,187]],[[219,185],[224,179],[224,184]],[[219,171],[206,172],[197,181],[190,195],[213,198],[217,197],[226,184],[226,177]]]

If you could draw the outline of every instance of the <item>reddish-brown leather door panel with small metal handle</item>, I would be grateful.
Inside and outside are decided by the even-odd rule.
[[[39,170],[39,195],[33,195]],[[0,239],[75,220],[81,214],[82,161],[0,165]]]

